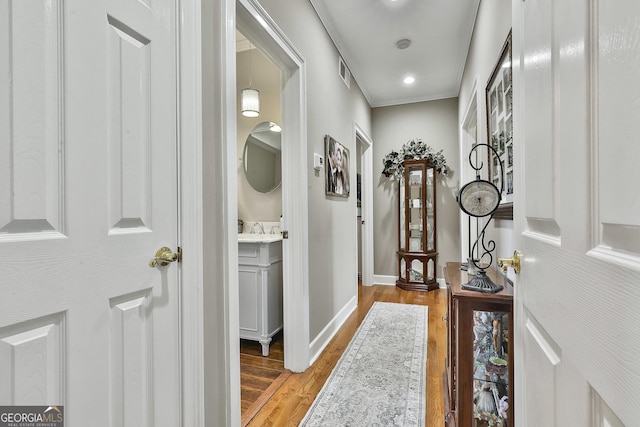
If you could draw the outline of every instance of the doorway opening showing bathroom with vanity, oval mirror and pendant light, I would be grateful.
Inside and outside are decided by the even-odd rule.
[[[236,30],[240,406],[244,425],[284,374],[281,71]],[[258,102],[245,105],[246,88]],[[245,114],[244,108],[251,107]]]

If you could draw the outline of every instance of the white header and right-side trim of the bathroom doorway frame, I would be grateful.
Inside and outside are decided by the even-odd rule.
[[[282,71],[282,216],[289,232],[282,247],[284,366],[302,372],[309,367],[306,63],[256,0],[238,0],[237,6],[238,30]],[[227,60],[235,61],[235,52]],[[235,78],[231,83],[235,93]],[[237,281],[230,292],[238,293]]]

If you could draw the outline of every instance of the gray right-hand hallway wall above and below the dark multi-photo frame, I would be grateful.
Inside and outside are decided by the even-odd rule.
[[[478,102],[478,142],[487,143],[487,108],[485,101],[485,88],[493,67],[498,61],[502,46],[511,29],[511,1],[494,0],[480,2],[476,24],[467,62],[460,85],[460,105],[458,112],[460,119],[464,118],[465,109],[473,96],[477,96]],[[473,90],[476,82],[476,91]],[[514,141],[514,150],[517,150],[517,141]],[[461,148],[463,157],[467,148]],[[462,167],[469,168],[467,162]],[[517,182],[514,183],[514,191],[518,191]],[[513,254],[513,221],[495,220],[487,229],[487,236],[495,239],[498,257],[510,257]],[[467,236],[463,236],[467,239]]]

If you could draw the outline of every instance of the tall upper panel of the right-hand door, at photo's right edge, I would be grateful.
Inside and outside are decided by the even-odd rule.
[[[594,0],[594,255],[640,270],[640,3],[619,3]]]

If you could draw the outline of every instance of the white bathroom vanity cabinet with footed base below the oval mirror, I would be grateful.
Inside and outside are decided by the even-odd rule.
[[[282,329],[282,237],[239,237],[238,279],[240,338],[260,342],[268,356],[272,337]]]

